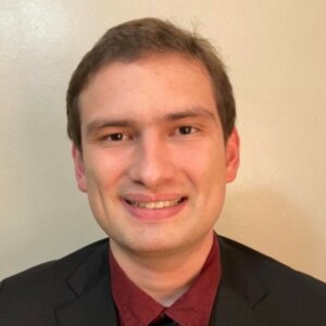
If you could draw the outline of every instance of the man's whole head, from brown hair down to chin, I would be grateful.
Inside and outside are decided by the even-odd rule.
[[[111,28],[74,73],[67,115],[78,188],[112,248],[212,240],[239,143],[231,86],[204,39],[154,18]]]

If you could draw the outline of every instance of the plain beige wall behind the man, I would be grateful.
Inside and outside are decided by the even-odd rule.
[[[241,171],[216,229],[326,280],[326,2],[0,0],[0,279],[103,237],[76,190],[64,97],[110,26],[191,23],[235,87]]]

